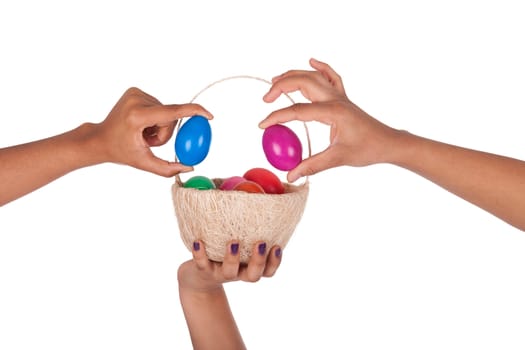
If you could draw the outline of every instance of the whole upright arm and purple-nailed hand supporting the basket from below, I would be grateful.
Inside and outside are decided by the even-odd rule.
[[[209,261],[202,242],[195,242],[193,260],[179,267],[179,296],[194,349],[246,349],[233,317],[223,284],[256,282],[271,277],[281,262],[281,250],[254,246],[247,266],[239,264],[237,249],[230,248],[222,263]],[[265,245],[264,245],[265,247]],[[233,253],[235,252],[235,253]]]

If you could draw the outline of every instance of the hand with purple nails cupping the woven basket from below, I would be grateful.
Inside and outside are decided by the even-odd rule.
[[[254,245],[247,265],[240,263],[239,243],[232,241],[222,263],[208,260],[202,241],[193,245],[193,259],[179,267],[179,288],[195,292],[214,291],[226,282],[256,282],[261,277],[271,277],[281,264],[282,250],[278,246],[268,251],[266,243]]]

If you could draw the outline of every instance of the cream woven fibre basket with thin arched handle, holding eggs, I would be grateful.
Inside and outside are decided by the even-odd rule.
[[[251,76],[228,77],[208,85],[190,102],[193,103],[211,86],[231,79],[256,79],[271,84]],[[294,103],[290,96],[286,97]],[[217,116],[214,120],[216,119]],[[177,124],[177,130],[181,124],[182,122]],[[307,152],[310,156],[308,128],[303,124],[308,141]],[[253,245],[258,241],[266,242],[268,247],[286,247],[306,206],[309,193],[308,178],[299,185],[283,182],[283,194],[219,190],[223,180],[213,178],[217,189],[201,191],[183,187],[184,182],[180,176],[175,176],[175,183],[171,188],[173,205],[180,236],[188,250],[191,251],[193,243],[200,239],[205,244],[208,258],[221,262],[227,252],[228,243],[235,239],[240,243],[240,261],[247,263]]]

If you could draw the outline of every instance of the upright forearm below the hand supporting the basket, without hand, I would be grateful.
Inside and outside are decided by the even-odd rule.
[[[194,349],[246,348],[222,287],[213,292],[179,288],[179,295]]]

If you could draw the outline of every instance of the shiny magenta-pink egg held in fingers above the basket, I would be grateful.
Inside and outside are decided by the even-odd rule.
[[[301,141],[287,126],[275,124],[266,128],[262,144],[266,159],[279,170],[292,170],[302,160]]]

